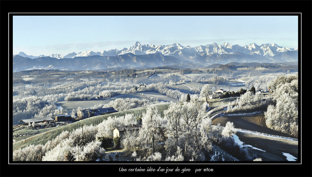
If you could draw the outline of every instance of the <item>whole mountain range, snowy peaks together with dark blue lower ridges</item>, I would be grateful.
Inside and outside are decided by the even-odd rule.
[[[47,66],[79,70],[106,69],[117,66],[121,68],[150,68],[169,65],[193,68],[195,66],[205,67],[213,63],[276,63],[293,61],[298,61],[298,49],[280,47],[275,43],[261,44],[260,46],[252,43],[246,46],[239,46],[225,42],[222,45],[212,43],[205,46],[184,47],[179,43],[173,43],[172,45],[141,45],[139,42],[136,42],[129,49],[111,49],[108,51],[103,50],[102,52],[73,52],[65,56],[52,54],[49,57],[44,55],[35,57],[20,52],[13,56],[13,63],[15,63],[13,68],[19,71],[22,68],[45,68]],[[15,72],[14,69],[13,72]]]

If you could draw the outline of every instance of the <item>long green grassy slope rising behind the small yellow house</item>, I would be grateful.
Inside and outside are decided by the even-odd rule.
[[[160,111],[160,113],[163,114],[163,111],[168,108],[169,104],[170,103],[156,104],[156,106],[158,107],[158,110]],[[30,145],[30,144],[35,144],[35,145],[45,144],[48,140],[55,139],[56,136],[61,134],[62,131],[66,131],[66,130],[72,131],[74,129],[80,128],[82,124],[83,125],[100,124],[104,119],[107,119],[109,116],[124,116],[125,114],[134,114],[135,116],[142,116],[142,114],[145,112],[146,112],[146,107],[141,107],[141,108],[129,109],[126,111],[120,111],[117,113],[100,115],[100,116],[95,116],[95,117],[91,117],[88,119],[83,119],[78,122],[75,122],[66,126],[57,127],[56,129],[53,129],[53,130],[50,130],[41,134],[36,134],[32,137],[23,139],[21,141],[17,141],[13,143],[13,151],[17,148],[26,147],[27,145]]]

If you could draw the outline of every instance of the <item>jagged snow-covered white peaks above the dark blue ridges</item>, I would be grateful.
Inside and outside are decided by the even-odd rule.
[[[182,46],[181,44],[173,43],[172,45],[154,45],[154,44],[144,44],[141,45],[139,42],[136,42],[134,46],[131,46],[129,48],[123,48],[121,50],[118,49],[111,49],[108,51],[103,50],[102,52],[93,52],[93,51],[84,51],[79,53],[69,53],[65,56],[61,54],[51,54],[48,57],[51,58],[75,58],[75,57],[87,57],[87,56],[93,56],[93,55],[99,55],[99,56],[117,56],[117,55],[123,55],[126,53],[133,53],[135,55],[145,55],[145,54],[152,54],[152,53],[161,53],[163,55],[169,55],[174,56],[178,59],[182,60],[192,60],[195,55],[199,54],[200,56],[209,56],[211,54],[233,54],[236,52],[240,52],[247,55],[259,55],[266,58],[272,58],[275,55],[278,55],[280,53],[284,53],[287,51],[298,51],[298,48],[288,48],[288,47],[280,47],[277,44],[261,44],[260,46],[256,43],[252,43],[246,46],[240,46],[240,45],[231,45],[227,42],[223,43],[222,45],[219,45],[217,43],[207,44],[207,45],[200,45],[197,47],[191,47],[191,46]],[[46,57],[44,55],[40,56],[32,56],[27,55],[24,52],[19,52],[17,55],[20,55],[22,57],[27,58],[39,58],[39,57]]]

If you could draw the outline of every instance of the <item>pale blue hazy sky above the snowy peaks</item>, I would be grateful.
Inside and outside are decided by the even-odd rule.
[[[13,54],[49,56],[143,44],[298,47],[297,16],[13,16]]]

